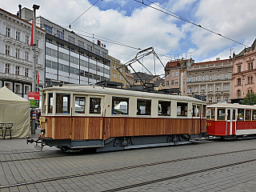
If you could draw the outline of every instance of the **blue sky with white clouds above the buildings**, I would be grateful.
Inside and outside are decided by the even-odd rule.
[[[170,57],[191,57],[195,62],[226,59],[230,57],[230,49],[232,54],[238,54],[245,46],[217,34],[246,46],[251,46],[256,38],[256,1],[252,0],[0,0],[1,8],[12,14],[17,13],[18,4],[29,9],[39,5],[37,16],[58,25],[68,27],[72,23],[71,30],[90,41],[100,39],[109,54],[123,64],[133,59],[138,49],[148,47],[154,47],[164,66]],[[166,13],[178,14],[217,34],[150,6],[164,8]],[[106,39],[137,49],[118,46]],[[164,73],[161,62],[152,54],[141,62],[152,74]],[[138,63],[134,68],[146,71]]]

